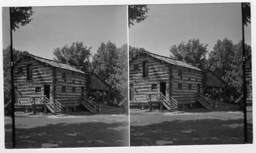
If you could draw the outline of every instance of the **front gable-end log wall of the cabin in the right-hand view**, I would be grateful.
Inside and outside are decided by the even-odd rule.
[[[142,63],[148,61],[148,78],[142,77]],[[138,65],[138,69],[134,70],[134,65]],[[129,84],[133,84],[133,99],[130,105],[146,105],[146,94],[150,92],[160,92],[160,82],[166,82],[166,96],[168,98],[169,88],[169,64],[152,58],[151,56],[137,57],[129,63]],[[157,89],[152,90],[152,84],[157,84]]]

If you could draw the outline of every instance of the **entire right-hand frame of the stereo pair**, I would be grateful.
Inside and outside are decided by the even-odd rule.
[[[128,12],[130,146],[252,143],[250,3]]]

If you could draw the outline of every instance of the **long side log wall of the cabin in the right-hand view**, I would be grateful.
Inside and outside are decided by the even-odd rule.
[[[181,71],[181,75],[178,75],[179,70]],[[172,72],[172,96],[178,100],[178,105],[196,104],[198,84],[200,84],[200,92],[203,92],[202,71],[173,65]],[[178,84],[182,85],[181,89],[178,89]],[[189,84],[191,85],[191,89],[188,89]]]

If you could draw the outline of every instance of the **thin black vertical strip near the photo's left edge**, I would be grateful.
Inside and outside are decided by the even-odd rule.
[[[12,147],[15,148],[15,116],[14,116],[14,86],[13,86],[13,50],[12,50],[12,13],[11,13],[11,7],[10,7],[10,38],[11,38],[11,45],[10,45],[10,51],[11,51],[11,97],[12,97]]]

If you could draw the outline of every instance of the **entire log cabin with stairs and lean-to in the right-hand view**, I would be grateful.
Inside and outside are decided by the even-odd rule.
[[[211,98],[203,94],[210,89]],[[168,111],[203,106],[216,109],[214,94],[225,101],[226,83],[214,72],[184,61],[140,51],[129,60],[130,108]],[[222,96],[221,96],[222,95]]]

